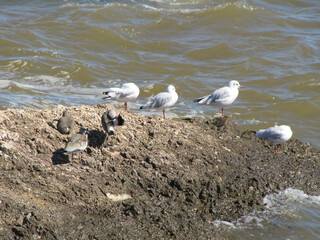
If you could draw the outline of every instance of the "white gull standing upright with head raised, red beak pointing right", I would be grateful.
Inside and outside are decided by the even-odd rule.
[[[236,80],[231,80],[228,86],[215,90],[208,96],[195,99],[194,102],[199,104],[214,104],[222,110],[222,117],[224,116],[223,109],[232,104],[239,95],[239,88],[243,88]]]

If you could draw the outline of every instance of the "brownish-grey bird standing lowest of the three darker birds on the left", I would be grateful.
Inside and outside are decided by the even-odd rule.
[[[81,127],[79,133],[73,134],[66,144],[64,149],[65,154],[72,154],[79,152],[79,161],[81,161],[81,152],[88,146],[88,128]]]

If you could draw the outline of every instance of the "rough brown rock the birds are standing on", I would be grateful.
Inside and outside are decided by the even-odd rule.
[[[212,222],[263,209],[288,187],[320,194],[320,153],[292,139],[281,154],[228,117],[126,113],[106,136],[107,105],[0,113],[0,239],[219,239]],[[82,160],[62,154],[68,109],[90,130]]]

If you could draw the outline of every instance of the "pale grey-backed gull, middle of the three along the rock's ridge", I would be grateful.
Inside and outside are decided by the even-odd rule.
[[[173,106],[178,101],[178,94],[173,85],[169,85],[165,92],[158,93],[140,109],[159,108],[163,109],[163,118],[166,119],[165,109]]]

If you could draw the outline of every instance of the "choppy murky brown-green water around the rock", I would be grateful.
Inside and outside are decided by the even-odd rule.
[[[103,103],[134,82],[134,112],[160,115],[139,106],[173,84],[169,118],[213,118],[192,100],[232,79],[244,88],[225,113],[242,130],[287,124],[320,146],[320,1],[0,0],[0,109]]]

